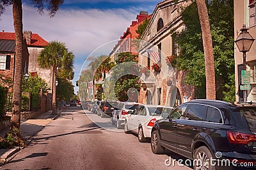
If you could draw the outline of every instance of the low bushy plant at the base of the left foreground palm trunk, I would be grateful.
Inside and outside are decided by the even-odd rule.
[[[0,137],[0,149],[13,148],[13,146],[26,146],[18,128],[13,128],[4,137]]]

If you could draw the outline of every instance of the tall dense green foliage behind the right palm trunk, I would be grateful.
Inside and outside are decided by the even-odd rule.
[[[230,31],[234,30],[234,1],[212,0],[207,3],[214,50],[216,98],[223,100],[228,95],[223,92],[234,85],[234,31]],[[196,3],[185,8],[181,15],[186,29],[177,33],[180,53],[176,66],[187,71],[186,83],[204,91],[197,97],[205,98],[204,49]]]

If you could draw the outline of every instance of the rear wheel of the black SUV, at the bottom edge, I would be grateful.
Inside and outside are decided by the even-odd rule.
[[[200,146],[194,151],[194,169],[209,169],[215,170],[215,167],[211,165],[212,153],[206,146]]]

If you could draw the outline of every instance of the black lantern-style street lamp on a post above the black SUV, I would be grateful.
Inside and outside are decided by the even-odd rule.
[[[246,26],[243,25],[243,27],[240,29],[241,33],[239,34],[239,36],[237,36],[237,39],[235,41],[239,51],[243,52],[243,70],[244,70],[244,72],[246,70],[246,52],[248,52],[251,49],[252,43],[255,40],[254,38],[252,38],[250,33],[248,33],[247,30],[248,30],[248,28],[246,28]],[[243,98],[244,98],[244,102],[247,102],[246,90],[243,91]]]

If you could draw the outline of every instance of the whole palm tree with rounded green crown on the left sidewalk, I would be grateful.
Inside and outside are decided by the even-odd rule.
[[[74,54],[68,52],[65,43],[53,41],[38,56],[38,66],[52,70],[52,114],[56,114],[56,73],[57,68],[63,72],[73,72]]]

